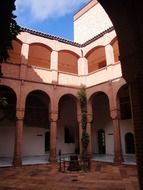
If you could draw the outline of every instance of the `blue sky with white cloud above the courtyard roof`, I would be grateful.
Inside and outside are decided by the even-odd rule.
[[[73,15],[90,0],[16,0],[17,23],[73,41]]]

